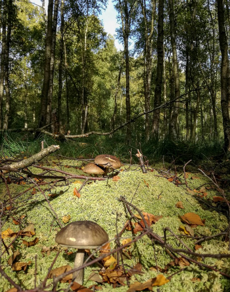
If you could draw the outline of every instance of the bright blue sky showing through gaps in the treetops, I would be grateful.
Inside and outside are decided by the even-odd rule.
[[[32,3],[41,5],[41,0],[31,0]],[[46,6],[48,6],[48,0],[45,0]],[[115,37],[116,31],[115,29],[119,26],[117,24],[117,11],[115,11],[113,7],[112,0],[108,0],[106,10],[103,10],[99,18],[103,22],[104,29],[108,34],[112,34]],[[117,50],[123,50],[123,44],[119,44],[115,39],[115,46]]]

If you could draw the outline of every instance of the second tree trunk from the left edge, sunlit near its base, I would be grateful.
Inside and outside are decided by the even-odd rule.
[[[7,23],[7,36],[6,36],[6,55],[5,55],[5,91],[6,91],[6,112],[3,122],[3,128],[8,129],[10,119],[10,105],[11,95],[9,88],[9,50],[11,41],[11,22],[12,22],[13,5],[12,0],[8,1],[8,23]]]

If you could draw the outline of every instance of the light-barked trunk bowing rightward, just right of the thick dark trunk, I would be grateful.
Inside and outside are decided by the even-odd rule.
[[[177,62],[177,45],[176,45],[176,28],[174,25],[174,8],[173,0],[169,0],[169,20],[170,20],[170,34],[172,46],[172,59],[173,59],[173,73],[174,73],[174,108],[172,111],[172,118],[170,121],[170,139],[177,140],[178,137],[178,114],[179,114],[179,96],[180,96],[180,83],[179,83],[179,70]]]

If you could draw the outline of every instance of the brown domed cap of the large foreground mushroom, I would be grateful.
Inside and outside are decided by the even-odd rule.
[[[80,249],[98,248],[108,240],[105,230],[97,223],[88,220],[75,221],[66,225],[55,238],[60,246]]]

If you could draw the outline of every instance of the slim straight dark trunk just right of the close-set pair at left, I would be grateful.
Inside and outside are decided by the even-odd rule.
[[[63,30],[64,30],[64,0],[61,0],[61,27],[60,27],[60,55],[58,60],[58,132],[62,130],[61,120],[61,98],[62,98],[62,59],[63,59]]]

